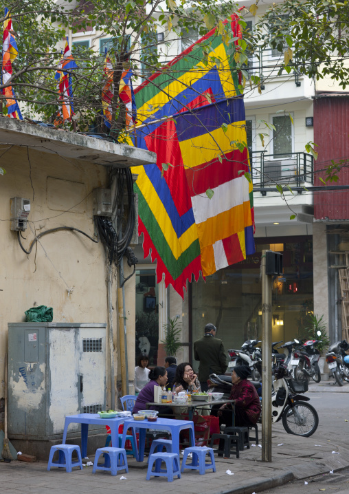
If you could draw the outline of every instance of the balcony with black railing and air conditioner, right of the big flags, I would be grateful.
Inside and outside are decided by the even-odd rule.
[[[254,189],[275,189],[277,185],[302,187],[314,183],[314,159],[311,154],[253,151],[250,162]],[[260,192],[266,195],[267,190]]]

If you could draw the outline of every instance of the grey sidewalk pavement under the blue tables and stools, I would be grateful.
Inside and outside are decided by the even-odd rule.
[[[128,473],[119,473],[115,477],[104,471],[93,475],[92,466],[85,466],[81,471],[74,468],[72,473],[66,473],[65,469],[56,467],[47,471],[46,462],[1,462],[1,494],[114,494],[115,490],[125,494],[161,491],[169,494],[252,494],[294,479],[329,475],[331,470],[349,466],[349,451],[337,447],[335,440],[292,436],[280,423],[273,425],[273,462],[262,462],[261,456],[262,449],[256,445],[241,451],[238,460],[235,455],[231,458],[217,458],[215,455],[216,473],[211,470],[199,475],[198,471],[185,470],[181,479],[175,477],[173,482],[167,482],[164,477],[150,477],[150,481],[146,481],[146,462],[137,464],[131,457],[128,457]],[[93,457],[85,460],[89,461],[93,462]],[[227,470],[234,475],[228,475]],[[126,480],[120,479],[122,475]]]

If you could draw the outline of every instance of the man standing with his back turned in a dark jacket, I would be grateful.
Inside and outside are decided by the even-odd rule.
[[[227,358],[222,340],[215,338],[217,328],[209,323],[205,325],[205,336],[194,342],[194,358],[200,361],[199,381],[201,391],[207,391],[207,379],[213,372],[224,374],[227,369]]]

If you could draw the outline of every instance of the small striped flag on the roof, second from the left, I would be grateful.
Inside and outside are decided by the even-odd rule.
[[[59,109],[58,116],[56,117],[56,122],[60,120],[71,120],[71,117],[75,115],[74,113],[74,102],[73,102],[73,87],[71,74],[65,72],[65,70],[77,69],[73,55],[69,48],[68,38],[65,42],[64,53],[58,65],[58,70],[54,76],[57,81],[57,90],[59,93],[59,100],[62,107]]]

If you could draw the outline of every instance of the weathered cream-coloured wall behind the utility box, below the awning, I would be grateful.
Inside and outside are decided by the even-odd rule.
[[[64,145],[64,144],[63,144]],[[67,160],[26,147],[1,146],[0,177],[0,403],[4,396],[4,355],[8,323],[25,321],[25,310],[47,305],[54,321],[107,323],[106,259],[104,246],[79,233],[58,231],[40,239],[30,255],[10,231],[10,198],[30,199],[30,223],[23,233],[28,250],[36,235],[58,226],[74,226],[95,236],[92,190],[107,185],[105,167],[82,160]],[[28,158],[29,156],[29,158]],[[125,276],[130,273],[126,264]],[[117,369],[117,276],[113,276],[113,332]],[[128,353],[134,353],[134,277],[126,283]],[[106,335],[107,336],[107,335]],[[108,338],[107,347],[108,347]],[[64,365],[64,361],[62,362]],[[130,378],[133,379],[133,365]],[[110,405],[109,351],[106,351],[106,402]],[[0,410],[0,427],[3,417]]]

